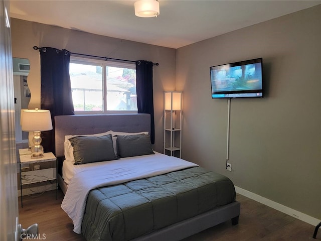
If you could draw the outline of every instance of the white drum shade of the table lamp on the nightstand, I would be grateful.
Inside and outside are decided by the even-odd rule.
[[[21,129],[24,132],[44,132],[52,130],[50,110],[24,110],[21,119]]]

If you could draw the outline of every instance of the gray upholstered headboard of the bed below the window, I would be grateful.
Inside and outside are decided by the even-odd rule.
[[[92,114],[55,116],[56,157],[64,156],[66,135],[85,135],[107,132],[149,132],[149,114]]]

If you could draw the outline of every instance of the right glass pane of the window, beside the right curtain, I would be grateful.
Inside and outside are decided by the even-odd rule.
[[[137,110],[136,70],[106,66],[107,110]]]

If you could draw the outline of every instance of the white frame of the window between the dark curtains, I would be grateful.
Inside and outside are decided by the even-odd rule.
[[[86,65],[101,65],[102,66],[102,97],[103,97],[103,110],[82,110],[75,111],[75,114],[120,114],[120,113],[137,113],[137,110],[107,110],[107,78],[106,78],[106,66],[136,69],[135,63],[123,63],[109,60],[98,60],[90,58],[82,58],[70,56],[70,63],[86,64]]]

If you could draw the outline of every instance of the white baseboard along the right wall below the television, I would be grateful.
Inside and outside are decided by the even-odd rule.
[[[309,224],[311,224],[313,226],[316,226],[321,221],[321,220],[319,220],[319,219],[317,219],[315,217],[312,217],[312,216],[306,215],[306,214],[304,214],[302,212],[296,211],[296,210],[294,210],[292,208],[289,208],[289,207],[284,206],[284,205],[282,205],[280,203],[274,202],[274,201],[272,201],[270,199],[267,199],[265,197],[257,195],[257,194],[255,194],[253,192],[247,191],[247,190],[245,190],[243,188],[235,186],[235,191],[237,193],[245,196],[245,197],[248,197],[248,198],[250,198],[250,199],[252,199],[254,201],[262,203],[262,204],[264,204],[264,205],[266,205],[268,207],[274,208],[274,209],[276,209],[276,210],[278,210],[280,212],[283,212],[283,213],[285,213],[287,215],[295,217],[295,218],[297,218],[297,219],[299,219],[299,220],[301,220],[303,222],[309,223]]]

